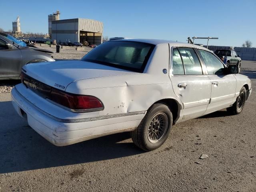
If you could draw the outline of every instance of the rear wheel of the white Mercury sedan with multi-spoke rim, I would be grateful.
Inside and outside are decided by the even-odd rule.
[[[160,120],[153,122],[158,117]],[[156,103],[149,108],[138,128],[131,132],[132,141],[142,150],[152,151],[166,141],[171,128],[172,112],[166,104]],[[157,134],[159,134],[159,138],[150,141],[150,137],[158,137]]]

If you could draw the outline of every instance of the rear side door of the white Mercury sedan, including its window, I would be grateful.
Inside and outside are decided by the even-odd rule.
[[[182,102],[183,121],[202,116],[211,96],[211,81],[204,75],[194,48],[173,47],[170,79],[175,95]]]

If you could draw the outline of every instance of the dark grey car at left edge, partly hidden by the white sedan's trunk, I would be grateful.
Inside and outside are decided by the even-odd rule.
[[[49,53],[52,52],[21,46],[0,34],[0,79],[19,79],[26,64],[55,61]]]

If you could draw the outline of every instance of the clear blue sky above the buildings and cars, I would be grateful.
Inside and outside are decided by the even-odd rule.
[[[102,21],[104,36],[185,42],[188,36],[218,37],[209,45],[256,47],[256,0],[0,0],[0,28],[12,29],[20,16],[22,32],[48,33],[48,14],[60,19]],[[196,40],[206,44],[207,40]]]

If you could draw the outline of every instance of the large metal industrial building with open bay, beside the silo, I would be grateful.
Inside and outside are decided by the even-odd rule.
[[[52,21],[52,40],[101,44],[103,23],[92,19],[65,19]]]

